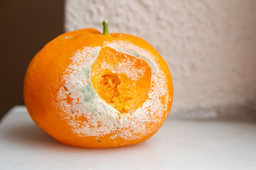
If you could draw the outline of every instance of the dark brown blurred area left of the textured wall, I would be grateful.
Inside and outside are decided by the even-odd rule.
[[[23,79],[29,62],[64,32],[63,0],[0,0],[0,119],[24,105]]]

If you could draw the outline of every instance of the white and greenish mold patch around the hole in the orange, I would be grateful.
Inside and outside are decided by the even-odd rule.
[[[145,60],[151,67],[149,98],[134,113],[122,115],[103,101],[92,87],[91,65],[103,47],[111,47],[117,52]],[[113,41],[103,47],[84,47],[71,57],[72,62],[62,78],[64,86],[58,91],[58,107],[61,111],[59,114],[63,115],[73,132],[81,137],[102,137],[112,134],[111,139],[124,138],[129,141],[150,134],[160,125],[168,109],[167,103],[171,100],[164,72],[159,69],[155,57],[149,51],[130,42]],[[102,67],[107,66],[103,64]],[[119,70],[126,74],[130,72],[129,77],[144,74],[136,70],[132,62],[130,65],[120,64],[118,67],[112,69],[117,73]],[[151,127],[146,128],[149,123]]]

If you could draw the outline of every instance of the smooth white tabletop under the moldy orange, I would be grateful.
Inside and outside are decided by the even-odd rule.
[[[23,106],[0,124],[0,169],[256,169],[256,123],[166,120],[139,145],[84,149],[36,127]]]

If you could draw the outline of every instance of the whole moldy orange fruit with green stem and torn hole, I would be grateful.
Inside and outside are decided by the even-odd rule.
[[[33,121],[78,147],[119,147],[159,130],[172,103],[166,62],[133,35],[87,28],[64,33],[33,58],[24,101]]]

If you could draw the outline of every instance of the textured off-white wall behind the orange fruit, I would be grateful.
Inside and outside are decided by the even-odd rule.
[[[66,0],[65,30],[97,28],[153,45],[174,79],[172,111],[255,101],[256,1]]]

